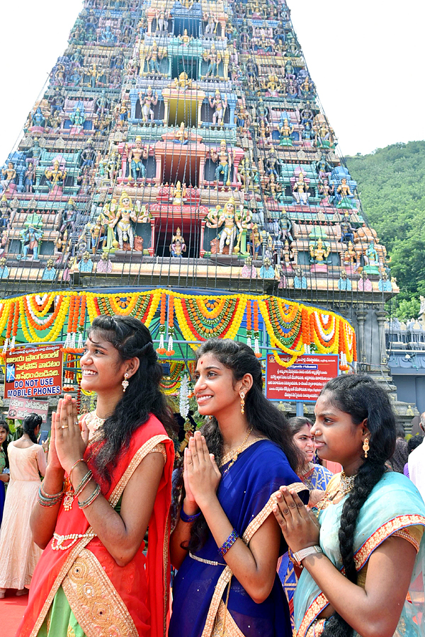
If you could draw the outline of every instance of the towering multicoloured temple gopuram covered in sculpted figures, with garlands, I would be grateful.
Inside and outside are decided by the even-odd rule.
[[[0,199],[3,355],[63,343],[81,408],[98,314],[149,326],[183,403],[213,335],[390,382],[397,284],[285,0],[84,0]]]

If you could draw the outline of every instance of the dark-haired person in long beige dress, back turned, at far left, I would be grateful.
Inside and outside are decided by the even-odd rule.
[[[46,470],[45,450],[37,444],[42,419],[31,413],[23,420],[23,436],[8,446],[11,481],[0,532],[0,599],[6,589],[25,595],[41,549],[33,542],[30,515],[37,501],[40,474]]]

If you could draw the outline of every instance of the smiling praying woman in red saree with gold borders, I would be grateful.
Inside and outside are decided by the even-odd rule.
[[[17,636],[164,636],[173,420],[149,330],[132,317],[98,317],[81,371],[97,406],[78,423],[67,396],[52,419],[31,520],[45,550]]]

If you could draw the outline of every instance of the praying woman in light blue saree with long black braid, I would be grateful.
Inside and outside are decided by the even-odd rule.
[[[318,503],[318,519],[283,486],[273,507],[293,560],[296,637],[423,637],[425,505],[402,474],[387,392],[365,375],[327,383],[312,434],[322,459],[344,471]],[[291,493],[293,491],[293,493]]]

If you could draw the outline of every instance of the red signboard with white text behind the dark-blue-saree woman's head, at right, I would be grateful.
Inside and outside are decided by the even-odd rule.
[[[280,356],[290,360],[289,356]],[[270,401],[317,401],[327,381],[338,376],[339,357],[305,354],[290,367],[282,367],[273,354],[267,355],[266,396]]]

